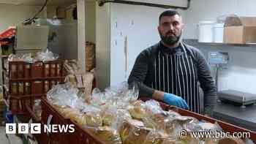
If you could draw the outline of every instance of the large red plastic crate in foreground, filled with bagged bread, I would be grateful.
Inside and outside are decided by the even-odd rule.
[[[143,99],[143,101],[146,101],[148,99]],[[219,121],[214,118],[206,117],[204,115],[200,115],[198,113],[193,113],[189,110],[183,110],[178,107],[173,107],[170,105],[165,105],[165,103],[159,102],[160,106],[163,110],[174,110],[177,113],[180,113],[181,115],[187,115],[197,118],[198,120],[205,120],[211,123],[217,122],[225,132],[250,132],[251,139],[256,142],[256,132],[252,132],[248,129],[243,129],[239,126],[234,126],[232,124],[227,124],[223,121]],[[83,129],[81,126],[75,123],[75,121],[70,121],[69,119],[65,119],[62,115],[59,114],[58,111],[56,111],[45,98],[42,99],[42,123],[45,123],[48,120],[48,116],[53,115],[53,122],[52,124],[75,124],[75,132],[72,134],[51,134],[50,137],[47,137],[47,135],[44,135],[44,139],[50,139],[50,141],[55,143],[78,143],[78,144],[103,144],[99,138],[97,138],[94,134],[91,134],[90,132],[86,131],[86,129]],[[62,139],[61,139],[62,137]],[[59,140],[59,141],[58,141]],[[45,141],[46,143],[46,141]],[[50,143],[53,144],[53,143]]]

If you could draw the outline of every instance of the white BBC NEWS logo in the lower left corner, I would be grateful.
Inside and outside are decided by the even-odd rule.
[[[5,132],[7,134],[41,134],[45,133],[73,133],[75,132],[74,124],[6,124]]]

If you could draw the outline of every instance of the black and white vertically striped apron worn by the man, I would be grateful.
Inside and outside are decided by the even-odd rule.
[[[172,54],[159,50],[154,61],[154,80],[151,87],[181,96],[191,111],[200,113],[197,67],[183,44],[181,49],[181,52]]]

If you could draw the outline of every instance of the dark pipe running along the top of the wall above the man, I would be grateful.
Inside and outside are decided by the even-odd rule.
[[[163,5],[163,4],[151,4],[146,2],[138,2],[138,1],[123,1],[123,0],[99,0],[99,7],[103,6],[105,3],[112,2],[112,3],[118,3],[118,4],[132,4],[132,5],[143,5],[148,7],[160,7],[164,9],[181,9],[181,10],[188,10],[190,7],[190,1],[187,0],[187,7],[178,7],[178,6],[169,6],[169,5]]]

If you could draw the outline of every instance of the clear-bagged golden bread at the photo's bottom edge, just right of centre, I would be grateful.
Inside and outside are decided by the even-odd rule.
[[[146,128],[142,121],[129,119],[123,121],[118,132],[124,144],[141,144],[152,129]]]

